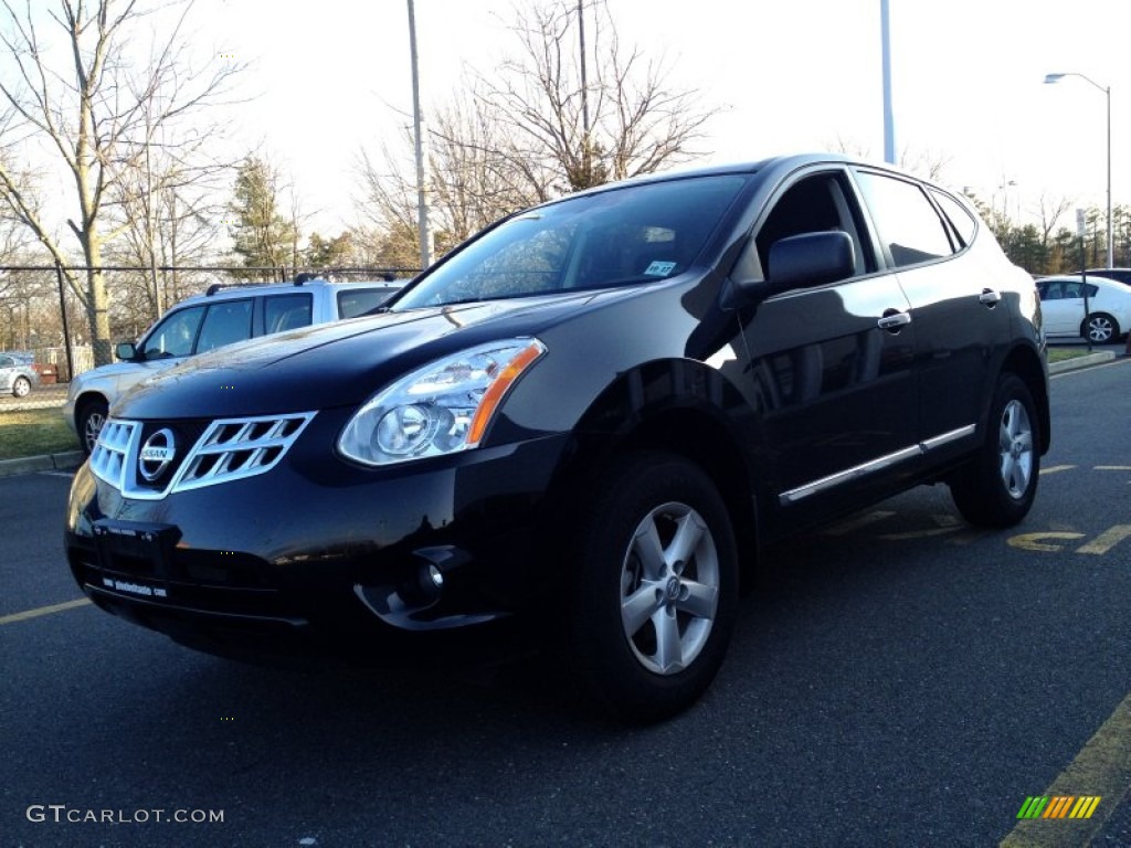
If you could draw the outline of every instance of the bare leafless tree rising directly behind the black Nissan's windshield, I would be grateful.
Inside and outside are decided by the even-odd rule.
[[[622,47],[605,0],[534,0],[512,29],[517,58],[478,73],[468,97],[430,122],[441,254],[517,209],[692,158],[710,114],[697,92],[668,85],[663,59]],[[412,267],[418,256],[412,148],[406,130],[399,149],[360,156],[364,198],[352,235],[368,262]]]

